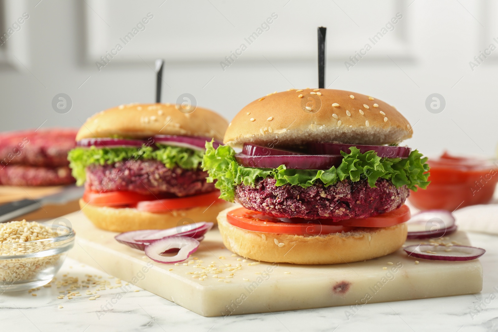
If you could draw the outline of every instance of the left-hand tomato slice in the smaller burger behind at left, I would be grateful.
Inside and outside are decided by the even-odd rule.
[[[157,198],[153,195],[142,195],[132,191],[93,192],[85,191],[83,200],[97,206],[119,206],[136,204],[140,201],[151,201]]]

